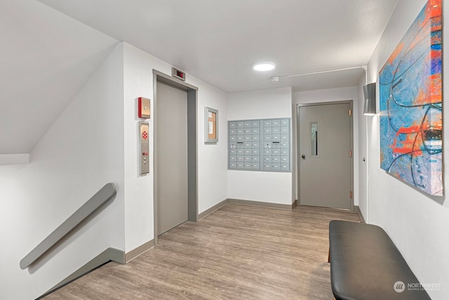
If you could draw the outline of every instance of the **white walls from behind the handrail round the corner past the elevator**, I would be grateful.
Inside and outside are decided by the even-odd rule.
[[[138,97],[153,98],[153,69],[171,72],[120,43],[34,147],[31,163],[0,166],[2,298],[35,299],[108,247],[130,252],[154,239],[154,168],[150,160],[149,175],[138,173],[136,109]],[[199,88],[201,213],[227,198],[227,103],[225,93],[189,74],[187,83]],[[203,143],[205,106],[219,111],[216,145]],[[150,139],[150,155],[153,148]],[[20,270],[20,259],[107,182],[116,184],[116,198],[36,266]]]

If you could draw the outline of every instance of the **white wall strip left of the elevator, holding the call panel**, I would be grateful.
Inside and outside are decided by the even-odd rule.
[[[123,43],[124,82],[124,162],[125,162],[125,250],[154,239],[153,180],[154,135],[153,118],[149,122],[149,174],[140,176],[140,149],[138,136],[137,98],[151,100],[154,116],[153,69],[168,71],[168,64],[147,53]]]

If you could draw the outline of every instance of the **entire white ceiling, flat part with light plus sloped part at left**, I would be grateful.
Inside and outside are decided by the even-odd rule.
[[[397,0],[1,1],[0,154],[29,153],[120,41],[227,93],[356,86]],[[276,69],[256,72],[255,62]]]

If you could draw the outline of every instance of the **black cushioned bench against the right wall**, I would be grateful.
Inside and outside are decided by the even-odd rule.
[[[337,300],[430,299],[379,226],[330,221],[329,255],[330,283]]]

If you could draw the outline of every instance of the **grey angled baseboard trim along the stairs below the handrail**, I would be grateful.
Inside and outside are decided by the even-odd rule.
[[[49,289],[45,294],[39,296],[37,299],[41,299],[52,292],[55,292],[56,289],[60,289],[61,287],[69,284],[70,282],[80,278],[83,275],[95,270],[96,268],[100,268],[100,266],[107,264],[109,261],[116,261],[119,264],[125,263],[125,252],[122,250],[118,250],[116,248],[107,248],[107,250],[101,252],[96,257],[88,261],[88,263],[84,264],[78,270],[74,271],[72,275],[67,276],[64,280],[60,281],[57,285]],[[37,300],[36,299],[36,300]]]

